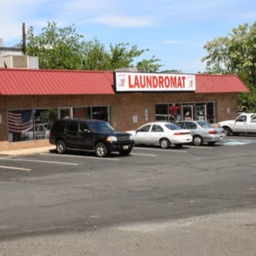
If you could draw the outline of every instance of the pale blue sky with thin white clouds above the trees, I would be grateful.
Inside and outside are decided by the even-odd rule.
[[[6,0],[1,3],[4,46],[21,42],[22,22],[37,33],[47,21],[74,24],[76,32],[97,37],[109,49],[120,42],[149,49],[161,70],[205,71],[203,46],[239,25],[256,21],[255,0]],[[139,59],[137,60],[137,62]]]

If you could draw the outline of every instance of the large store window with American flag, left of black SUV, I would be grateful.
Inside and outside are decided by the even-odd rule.
[[[56,109],[8,110],[9,141],[49,139],[56,119]]]

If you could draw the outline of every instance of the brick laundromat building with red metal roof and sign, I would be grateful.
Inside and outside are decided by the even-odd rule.
[[[0,69],[0,150],[49,146],[49,129],[62,117],[108,121],[133,130],[155,120],[237,116],[234,75]],[[189,113],[189,115],[186,115]]]

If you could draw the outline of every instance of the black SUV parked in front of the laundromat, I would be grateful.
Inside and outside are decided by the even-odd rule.
[[[92,119],[59,119],[51,128],[49,142],[56,145],[58,153],[67,149],[91,151],[98,157],[117,151],[129,155],[134,146],[130,133],[115,132],[105,121]]]

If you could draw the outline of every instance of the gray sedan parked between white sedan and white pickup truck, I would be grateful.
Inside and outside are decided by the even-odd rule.
[[[175,124],[191,131],[192,142],[195,146],[201,146],[203,142],[213,146],[217,141],[223,141],[226,137],[223,128],[216,128],[205,121],[179,121]]]

